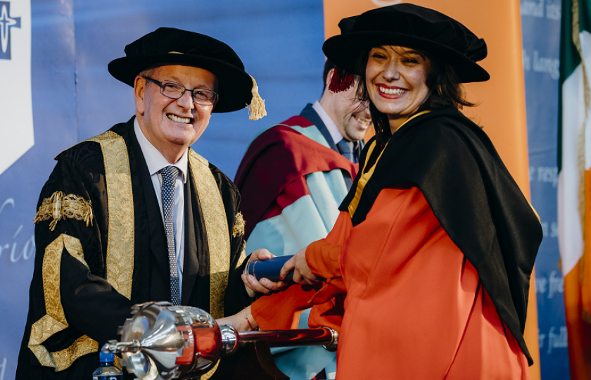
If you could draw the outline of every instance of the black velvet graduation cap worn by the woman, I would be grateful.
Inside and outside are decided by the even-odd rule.
[[[341,23],[350,23],[344,18]],[[341,24],[339,23],[339,26]],[[476,62],[487,55],[483,39],[443,13],[414,4],[376,8],[357,16],[350,30],[324,42],[324,54],[340,68],[357,72],[360,55],[377,45],[419,49],[454,68],[463,83],[485,82],[490,75]]]

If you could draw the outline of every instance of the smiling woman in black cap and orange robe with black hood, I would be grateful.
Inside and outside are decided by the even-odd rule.
[[[269,305],[297,310],[294,299],[312,296],[310,326],[340,329],[337,379],[528,379],[523,329],[542,229],[490,139],[459,112],[473,106],[462,83],[489,79],[476,63],[485,42],[399,4],[363,13],[323,49],[361,77],[376,137],[330,234],[281,270],[316,291],[292,288]],[[259,308],[254,322],[277,328],[278,313]]]

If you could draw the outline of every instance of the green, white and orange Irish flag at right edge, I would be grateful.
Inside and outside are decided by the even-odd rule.
[[[558,222],[571,378],[591,379],[591,0],[563,0]]]

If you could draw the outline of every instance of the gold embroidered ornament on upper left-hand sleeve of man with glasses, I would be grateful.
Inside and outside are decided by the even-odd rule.
[[[53,231],[56,229],[58,221],[63,217],[70,219],[81,220],[88,225],[92,225],[92,205],[90,201],[84,200],[82,196],[75,194],[64,195],[61,191],[56,191],[51,194],[51,197],[45,198],[41,207],[35,214],[34,223],[43,222],[45,220],[53,220],[49,224],[49,229]]]

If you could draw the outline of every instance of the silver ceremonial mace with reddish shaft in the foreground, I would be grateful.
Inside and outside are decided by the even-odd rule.
[[[336,350],[338,343],[338,333],[328,327],[238,332],[231,326],[218,326],[201,309],[168,302],[134,305],[132,314],[118,331],[121,341],[109,341],[102,350],[119,354],[120,363],[139,380],[197,378],[246,342],[324,346],[327,350]]]

